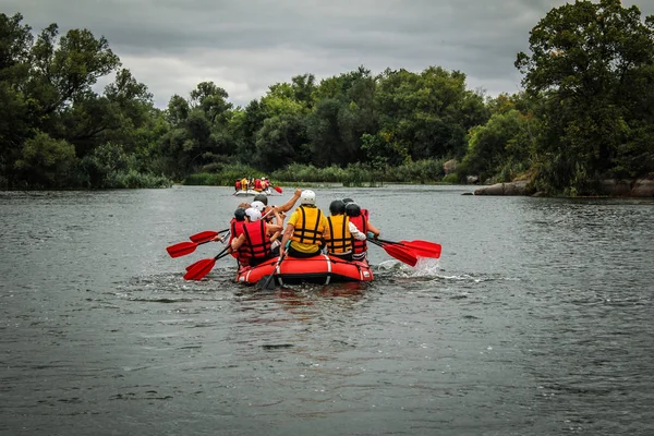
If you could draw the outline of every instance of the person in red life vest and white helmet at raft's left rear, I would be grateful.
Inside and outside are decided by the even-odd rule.
[[[281,218],[277,210],[274,209],[277,222],[281,222]],[[245,209],[245,225],[243,232],[239,238],[232,240],[230,250],[231,253],[238,252],[239,264],[256,266],[261,263],[277,256],[278,253],[272,250],[271,237],[281,232],[281,223],[269,225],[262,219],[262,213],[251,207]]]

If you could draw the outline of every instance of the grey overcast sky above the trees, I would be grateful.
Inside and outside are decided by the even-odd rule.
[[[105,36],[158,107],[203,81],[234,106],[268,86],[313,73],[319,81],[364,65],[421,72],[459,70],[468,88],[517,93],[516,55],[555,0],[0,0],[40,32],[88,28]],[[654,14],[654,0],[637,4]],[[113,77],[108,77],[107,82]]]

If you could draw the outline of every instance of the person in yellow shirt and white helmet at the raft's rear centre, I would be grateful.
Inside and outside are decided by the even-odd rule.
[[[291,214],[279,247],[291,257],[313,257],[320,254],[323,239],[331,238],[325,214],[316,207],[316,193],[302,191],[300,206]],[[287,243],[290,241],[287,250]]]

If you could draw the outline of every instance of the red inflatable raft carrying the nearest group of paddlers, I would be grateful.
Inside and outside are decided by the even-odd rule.
[[[373,280],[373,270],[366,261],[347,262],[326,254],[308,258],[286,257],[277,271],[276,265],[277,257],[255,267],[242,267],[237,274],[237,281],[254,284],[271,274],[275,274],[275,282],[279,286]]]

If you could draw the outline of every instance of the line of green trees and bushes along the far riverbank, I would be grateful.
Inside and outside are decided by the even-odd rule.
[[[577,1],[549,11],[529,43],[513,95],[487,97],[439,66],[360,66],[319,82],[293,76],[245,107],[202,82],[159,109],[105,37],[60,35],[57,24],[34,35],[20,13],[0,14],[0,186],[168,186],[198,174],[232,183],[259,171],[525,178],[574,195],[606,178],[654,177],[654,16],[619,0]]]

